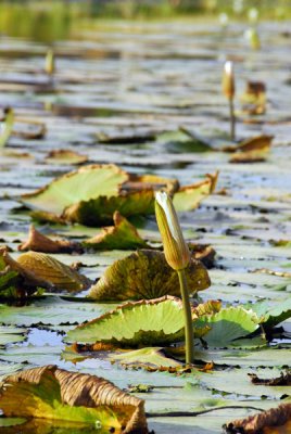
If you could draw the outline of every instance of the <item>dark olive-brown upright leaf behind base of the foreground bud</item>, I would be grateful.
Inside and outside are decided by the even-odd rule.
[[[191,260],[186,276],[190,293],[210,286],[207,270],[198,260]],[[163,295],[180,295],[178,276],[162,252],[147,250],[116,260],[89,293],[94,299],[106,301],[148,299]]]

